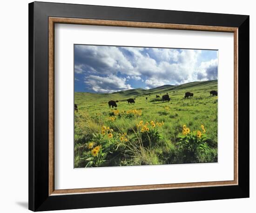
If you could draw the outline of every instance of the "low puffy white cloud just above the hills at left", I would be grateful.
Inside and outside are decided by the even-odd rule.
[[[97,93],[114,93],[121,90],[133,89],[131,85],[126,84],[126,78],[119,78],[113,74],[107,77],[98,75],[89,75],[85,77],[86,87]]]

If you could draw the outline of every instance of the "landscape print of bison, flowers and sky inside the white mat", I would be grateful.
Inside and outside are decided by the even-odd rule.
[[[74,167],[218,159],[218,51],[74,44]]]

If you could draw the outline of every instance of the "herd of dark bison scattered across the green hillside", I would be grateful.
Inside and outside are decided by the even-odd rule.
[[[212,91],[210,91],[210,95],[211,96],[217,96],[218,95],[218,92],[216,91],[216,90],[212,90]],[[149,96],[150,96],[150,94],[149,94]],[[189,97],[193,97],[194,96],[194,93],[189,93],[189,92],[187,92],[187,93],[185,93],[185,96],[184,96],[184,98],[189,98]],[[159,95],[156,95],[156,98],[160,98],[160,96]],[[146,97],[146,100],[148,100],[148,97]],[[162,101],[170,101],[171,99],[170,99],[170,97],[169,97],[169,95],[168,95],[168,93],[166,93],[165,95],[163,95],[162,96]],[[118,100],[109,100],[108,101],[108,107],[109,108],[114,108],[114,107],[117,107],[117,104],[116,103],[118,103],[119,101]],[[130,99],[127,99],[127,102],[128,102],[128,104],[135,104],[135,98],[130,98]],[[74,104],[74,110],[76,111],[76,112],[78,112],[78,107],[77,107],[77,105],[76,104]]]

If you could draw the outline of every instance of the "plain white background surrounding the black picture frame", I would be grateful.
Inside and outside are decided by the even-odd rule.
[[[59,2],[51,0],[52,2]],[[253,120],[256,113],[256,81],[253,74],[253,40],[256,14],[252,0],[205,1],[205,0],[60,0],[65,3],[142,7],[198,11],[209,13],[233,13],[250,15],[250,198],[214,200],[186,203],[122,206],[94,209],[69,210],[79,213],[119,212],[189,212],[189,213],[252,213],[256,209],[256,162],[253,153]],[[28,0],[1,1],[0,3],[0,212],[27,212],[28,200]],[[101,202],[99,200],[99,202]],[[64,211],[59,211],[64,212]],[[65,211],[68,212],[68,211]]]

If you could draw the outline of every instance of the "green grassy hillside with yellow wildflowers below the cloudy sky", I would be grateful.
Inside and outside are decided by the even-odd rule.
[[[216,162],[217,97],[210,96],[211,90],[217,90],[217,80],[75,93],[74,166]],[[184,99],[185,92],[194,97]],[[162,102],[166,93],[171,100]],[[128,98],[135,98],[135,104],[128,104]],[[109,108],[109,100],[118,100],[118,107]]]

